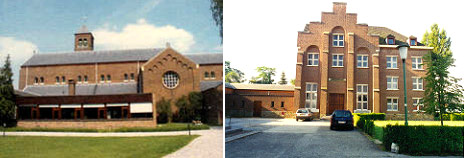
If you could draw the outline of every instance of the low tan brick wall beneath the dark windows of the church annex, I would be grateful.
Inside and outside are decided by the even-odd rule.
[[[153,119],[125,120],[20,120],[18,127],[24,128],[90,128],[115,129],[122,127],[156,127]]]

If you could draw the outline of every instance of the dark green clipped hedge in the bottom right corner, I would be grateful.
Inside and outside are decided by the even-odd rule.
[[[387,125],[383,144],[391,150],[394,142],[399,153],[410,155],[463,155],[463,127]]]

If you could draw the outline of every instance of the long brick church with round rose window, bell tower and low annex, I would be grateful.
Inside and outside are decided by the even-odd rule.
[[[83,25],[74,51],[34,54],[20,69],[20,127],[155,127],[156,102],[204,94],[209,121],[222,122],[223,54],[166,48],[94,50]],[[215,93],[216,92],[216,93]],[[219,95],[222,96],[222,95]]]

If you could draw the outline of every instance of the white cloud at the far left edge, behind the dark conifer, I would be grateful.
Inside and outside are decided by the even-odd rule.
[[[38,48],[32,42],[0,36],[0,66],[3,66],[6,56],[10,54],[15,88],[18,86],[20,66],[33,55],[34,50]]]

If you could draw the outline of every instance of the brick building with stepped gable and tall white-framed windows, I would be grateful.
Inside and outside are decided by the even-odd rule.
[[[408,44],[405,60],[408,112],[421,112],[426,75],[422,57],[432,48],[386,27],[357,23],[346,3],[333,3],[320,22],[298,32],[295,106],[320,116],[336,109],[355,113],[404,113],[402,59],[397,46]]]

